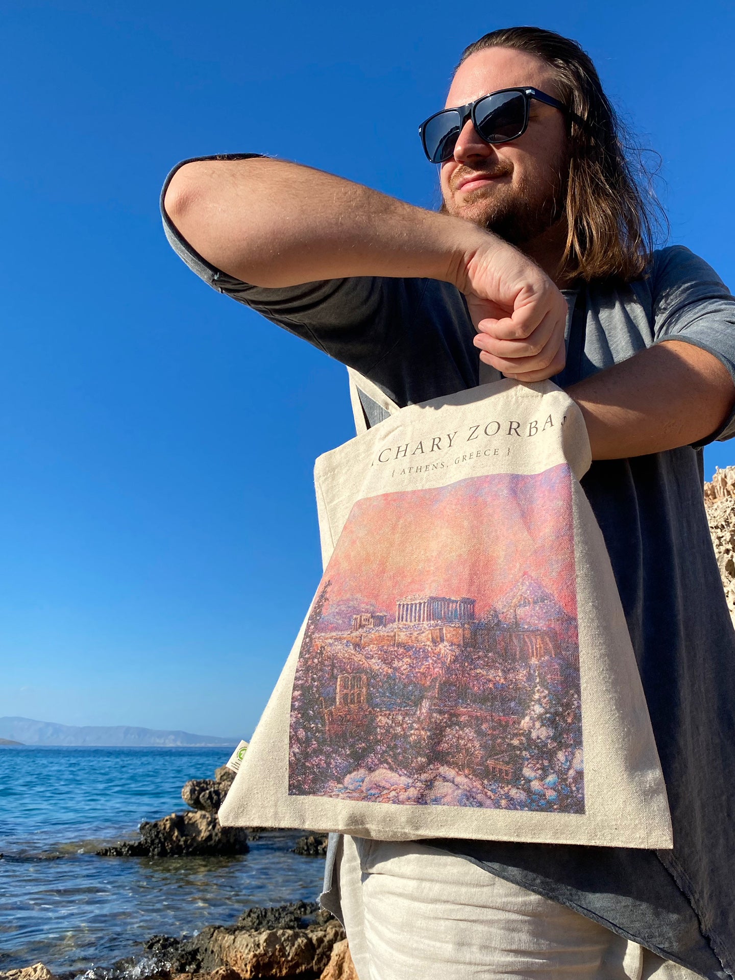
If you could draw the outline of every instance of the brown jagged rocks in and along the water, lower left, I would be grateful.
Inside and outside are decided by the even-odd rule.
[[[218,810],[234,773],[225,766],[214,779],[191,779],[181,798],[191,809],[144,821],[139,838],[98,849],[101,858],[233,857],[247,854],[248,840],[267,827],[222,827]],[[293,853],[322,858],[326,836],[306,834]],[[344,930],[316,902],[245,909],[233,926],[209,925],[192,937],[155,935],[141,954],[82,972],[54,974],[44,963],[0,972],[0,980],[358,980]]]

